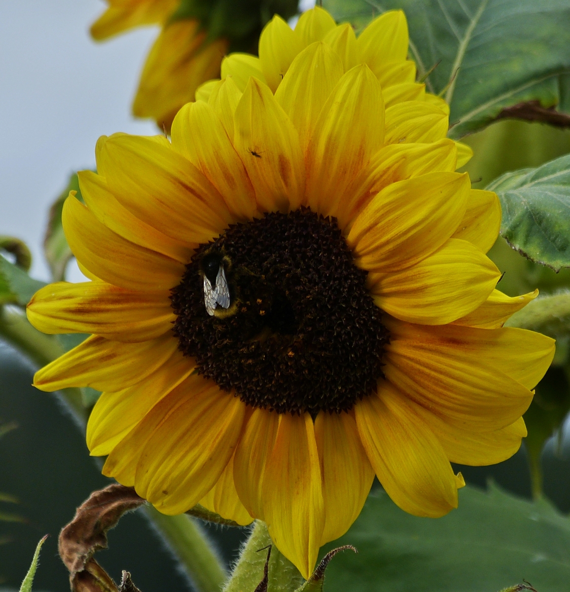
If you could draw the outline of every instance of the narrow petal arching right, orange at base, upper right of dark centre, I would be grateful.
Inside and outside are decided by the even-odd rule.
[[[368,165],[344,191],[336,216],[349,233],[352,223],[372,198],[388,185],[437,171],[453,172],[457,149],[444,138],[433,144],[388,144],[378,150]]]

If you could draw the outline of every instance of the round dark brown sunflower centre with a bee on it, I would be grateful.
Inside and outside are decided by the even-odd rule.
[[[339,413],[382,377],[388,331],[365,281],[336,219],[266,214],[198,247],[172,290],[173,330],[244,403]]]

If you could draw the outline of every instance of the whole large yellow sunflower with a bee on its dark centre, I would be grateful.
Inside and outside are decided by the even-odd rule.
[[[166,514],[265,520],[308,578],[374,475],[437,517],[450,465],[503,461],[553,340],[503,328],[485,253],[500,205],[455,172],[447,110],[413,81],[407,25],[358,38],[315,8],[229,56],[172,140],[114,134],[63,226],[91,281],[41,289],[28,318],[92,336],[36,387],[103,391],[103,472]]]

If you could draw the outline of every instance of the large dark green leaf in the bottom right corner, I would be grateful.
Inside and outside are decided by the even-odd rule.
[[[326,592],[494,592],[530,581],[567,592],[570,520],[546,501],[531,503],[497,487],[465,487],[459,508],[439,519],[406,514],[383,491],[369,496],[327,570]]]

